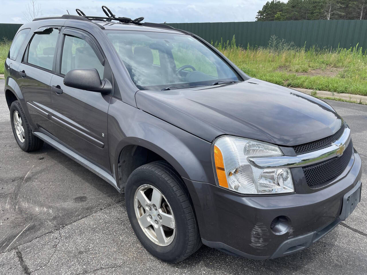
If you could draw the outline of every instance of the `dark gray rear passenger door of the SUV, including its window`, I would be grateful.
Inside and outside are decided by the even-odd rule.
[[[55,66],[60,27],[42,27],[34,32],[22,63],[18,67],[17,83],[27,104],[31,123],[36,128],[50,130],[52,109],[50,83]]]

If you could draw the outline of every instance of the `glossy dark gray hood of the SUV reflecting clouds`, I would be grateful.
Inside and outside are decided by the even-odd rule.
[[[138,91],[137,107],[212,142],[234,135],[294,146],[333,135],[342,124],[334,109],[312,96],[251,78],[172,91]]]

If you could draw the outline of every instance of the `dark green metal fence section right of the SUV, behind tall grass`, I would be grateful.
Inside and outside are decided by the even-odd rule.
[[[272,22],[218,22],[218,23],[169,23],[177,29],[187,30],[213,44],[227,40],[233,35],[236,44],[247,47],[266,46],[275,34],[287,42],[306,48],[350,48],[359,43],[367,48],[367,20],[315,20]]]

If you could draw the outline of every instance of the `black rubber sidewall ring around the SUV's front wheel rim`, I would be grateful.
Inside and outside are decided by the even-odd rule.
[[[176,232],[174,240],[168,246],[159,246],[153,243],[148,236],[145,235],[139,225],[135,215],[134,197],[136,190],[143,184],[150,184],[160,190],[171,206],[176,223]],[[157,173],[147,169],[140,169],[137,172],[133,172],[128,179],[125,200],[126,210],[132,228],[143,246],[150,253],[152,253],[153,256],[161,258],[165,261],[174,262],[175,260],[181,258],[183,253],[185,253],[187,250],[187,224],[185,219],[183,219],[185,213],[182,210],[182,205],[170,185],[164,179],[159,177]]]

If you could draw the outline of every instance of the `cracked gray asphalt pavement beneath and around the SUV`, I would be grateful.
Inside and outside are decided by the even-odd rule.
[[[135,237],[123,196],[54,148],[23,152],[0,80],[0,274],[367,274],[367,188],[352,215],[308,249],[255,261],[209,247],[167,264]],[[367,182],[367,106],[328,101],[352,128]]]

